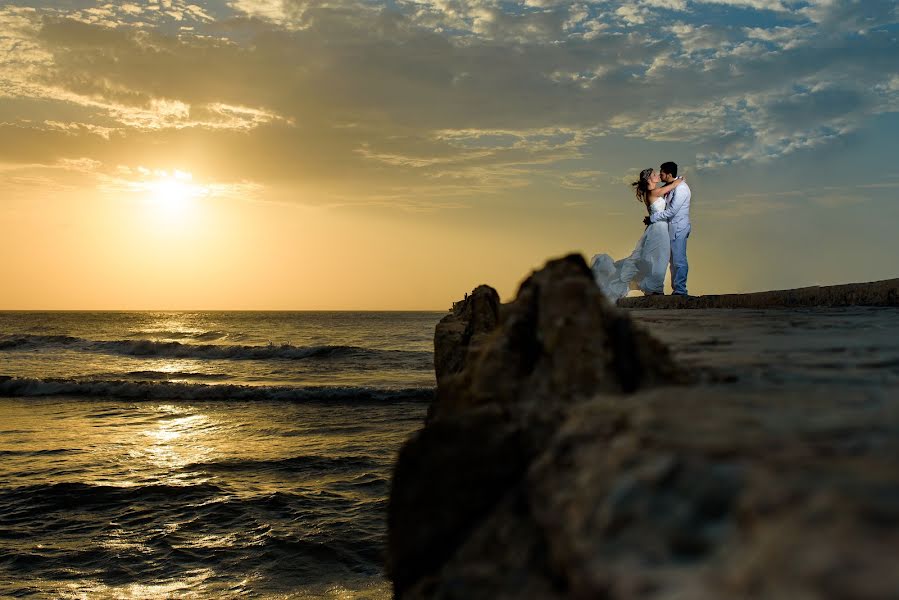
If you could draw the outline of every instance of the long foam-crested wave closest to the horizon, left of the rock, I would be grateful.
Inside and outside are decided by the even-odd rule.
[[[222,360],[303,360],[330,358],[375,358],[379,360],[415,360],[430,366],[431,353],[415,350],[380,350],[359,346],[319,345],[293,346],[269,344],[266,346],[185,344],[156,340],[87,340],[68,335],[0,335],[0,350],[35,350],[44,347],[74,347],[77,350],[120,354],[125,356],[152,356],[162,358],[197,358]]]

